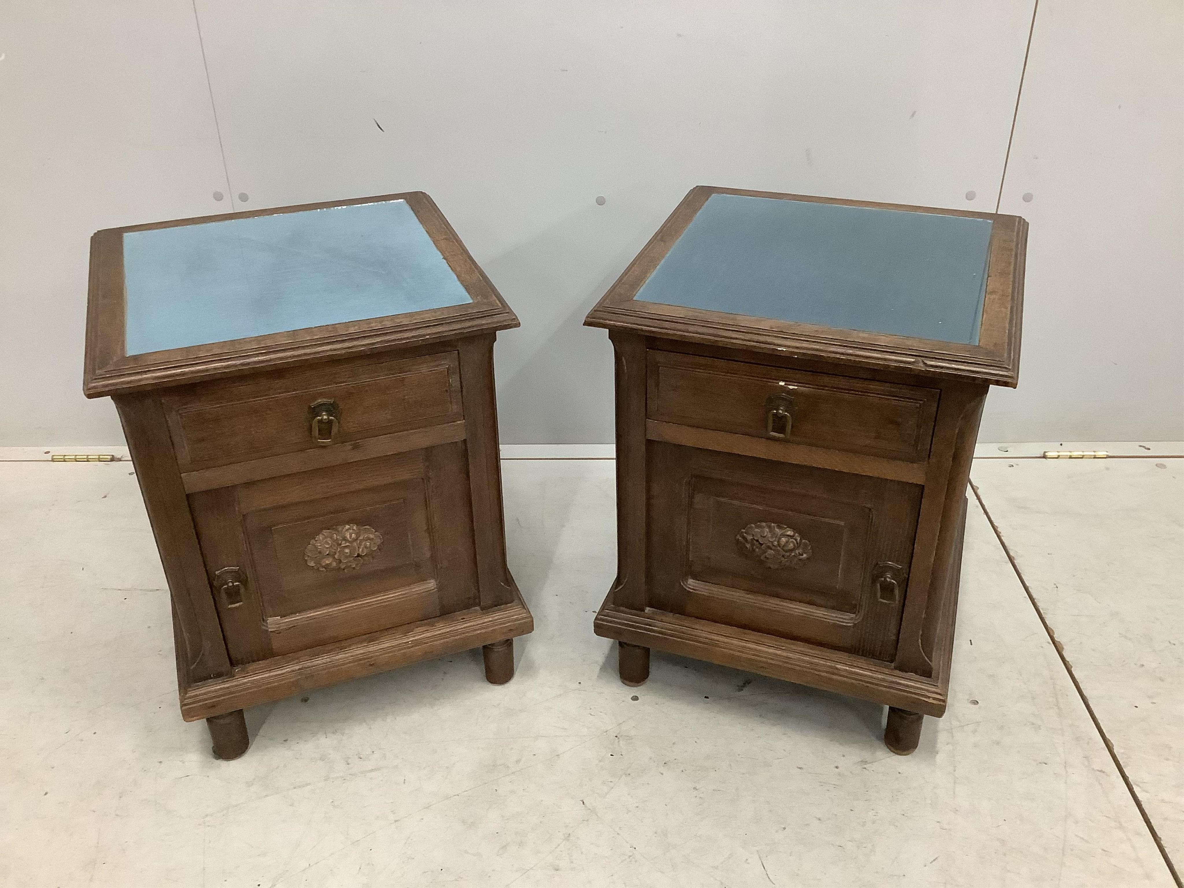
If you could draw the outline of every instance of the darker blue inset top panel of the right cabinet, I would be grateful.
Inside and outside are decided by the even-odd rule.
[[[713,194],[635,297],[978,345],[990,219]]]

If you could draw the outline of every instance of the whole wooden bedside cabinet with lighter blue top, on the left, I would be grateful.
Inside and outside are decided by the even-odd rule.
[[[101,231],[86,397],[112,395],[173,604],[181,714],[533,628],[506,566],[493,347],[517,318],[422,192]]]

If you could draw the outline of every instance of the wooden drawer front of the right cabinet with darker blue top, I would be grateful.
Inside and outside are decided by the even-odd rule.
[[[650,419],[828,450],[924,462],[939,392],[649,352]],[[770,422],[770,411],[777,411]]]

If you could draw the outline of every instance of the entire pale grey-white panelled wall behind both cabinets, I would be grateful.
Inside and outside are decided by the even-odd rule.
[[[1002,195],[1023,363],[983,439],[1184,438],[1180,2],[1041,0],[1004,178],[1032,2],[9,2],[0,445],[121,442],[81,394],[94,230],[408,189],[522,320],[502,440],[609,442],[580,322],[697,184]]]

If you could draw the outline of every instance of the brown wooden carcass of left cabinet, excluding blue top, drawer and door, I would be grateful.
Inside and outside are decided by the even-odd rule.
[[[471,302],[385,317],[127,355],[123,236],[207,221],[249,219],[308,210],[406,201],[455,272]],[[168,581],[181,714],[206,719],[215,753],[233,758],[246,748],[242,708],[274,701],[422,659],[484,646],[487,677],[513,675],[511,639],[533,620],[506,565],[497,413],[493,386],[496,332],[517,317],[474,262],[456,232],[423,192],[347,201],[229,213],[109,229],[91,238],[83,391],[111,395],[120,412],[148,516]],[[348,366],[343,359],[388,355],[458,355],[463,419],[429,429],[184,472],[170,443],[166,401],[179,387],[256,372],[303,373],[309,367]],[[463,442],[475,526],[480,607],[395,626],[309,650],[236,665],[219,622],[187,496],[287,472]]]

